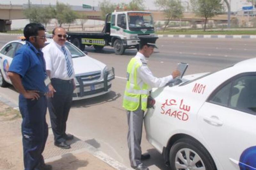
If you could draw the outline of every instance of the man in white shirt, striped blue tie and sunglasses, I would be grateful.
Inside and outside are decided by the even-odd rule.
[[[67,34],[64,28],[56,27],[52,31],[53,41],[43,48],[46,72],[51,78],[49,87],[48,109],[51,118],[54,145],[69,149],[67,140],[73,135],[66,134],[66,122],[71,107],[72,94],[76,88],[71,53],[65,42]]]

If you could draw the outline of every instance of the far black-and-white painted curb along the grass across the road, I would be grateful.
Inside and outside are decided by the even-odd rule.
[[[169,35],[159,34],[161,38],[229,38],[229,39],[256,39],[256,35]]]

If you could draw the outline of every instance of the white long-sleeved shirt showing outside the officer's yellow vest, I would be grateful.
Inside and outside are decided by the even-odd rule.
[[[145,56],[141,54],[140,52],[137,52],[135,55],[135,58],[139,59],[142,63],[141,67],[138,67],[138,85],[142,87],[143,82],[148,84],[151,88],[153,87],[164,87],[170,80],[172,80],[172,75],[166,76],[163,78],[157,78],[155,77],[152,72],[149,70],[147,61],[145,59]]]

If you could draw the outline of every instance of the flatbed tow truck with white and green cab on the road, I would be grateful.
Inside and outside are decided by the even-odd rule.
[[[68,41],[84,51],[93,46],[96,51],[105,46],[114,48],[116,55],[125,49],[139,50],[139,37],[155,37],[153,17],[146,11],[114,11],[106,15],[102,32],[68,32]]]

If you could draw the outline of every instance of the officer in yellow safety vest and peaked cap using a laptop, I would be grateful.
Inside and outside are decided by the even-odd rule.
[[[156,78],[149,70],[146,58],[156,47],[158,37],[140,37],[140,50],[127,66],[127,83],[124,91],[123,107],[127,110],[129,158],[131,166],[138,170],[148,170],[141,160],[149,159],[149,154],[141,154],[141,134],[144,111],[147,108],[149,91],[153,87],[163,87],[180,75],[178,70],[172,75]]]

